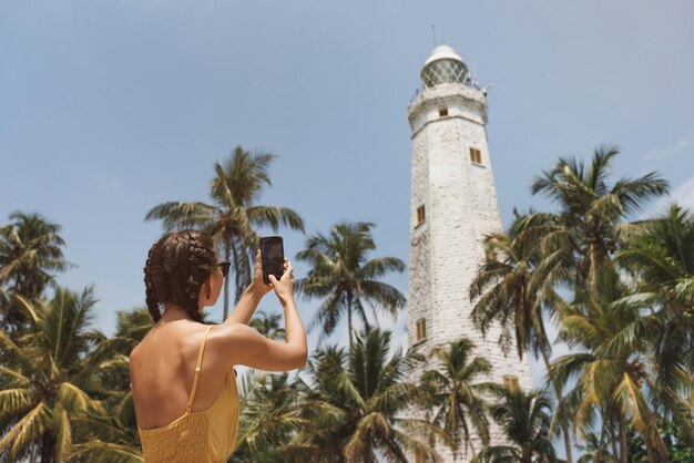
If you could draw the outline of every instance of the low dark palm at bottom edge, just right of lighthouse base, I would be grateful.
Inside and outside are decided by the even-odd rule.
[[[523,392],[497,385],[499,402],[490,407],[492,419],[503,429],[511,445],[484,447],[473,463],[559,462],[549,438],[551,401],[544,392]]]

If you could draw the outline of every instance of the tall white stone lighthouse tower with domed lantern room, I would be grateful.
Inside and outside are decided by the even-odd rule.
[[[486,93],[448,45],[433,49],[421,80],[423,89],[408,107],[412,128],[408,347],[428,353],[468,337],[477,346],[476,354],[493,366],[486,380],[530,389],[529,366],[519,361],[514,347],[504,357],[497,342],[499,330],[491,329],[482,339],[470,319],[477,301],[470,301],[468,289],[484,259],[483,237],[503,229],[487,146]],[[433,360],[425,368],[432,367]],[[422,371],[411,370],[410,380],[418,381]],[[506,441],[496,425],[490,438],[491,444]],[[481,449],[479,440],[473,445]],[[443,446],[437,450],[446,462],[469,462],[473,456],[465,455],[463,447],[458,460]]]

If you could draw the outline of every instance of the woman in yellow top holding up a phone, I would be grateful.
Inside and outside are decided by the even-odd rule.
[[[145,462],[226,462],[238,425],[233,366],[287,371],[306,364],[306,332],[285,258],[278,280],[263,282],[261,250],[253,281],[229,317],[205,325],[228,263],[197,230],[170,232],[152,246],[144,267],[146,302],[155,325],[130,354],[131,388]],[[248,327],[258,302],[275,290],[285,312],[286,342]],[[163,310],[163,311],[162,311]]]

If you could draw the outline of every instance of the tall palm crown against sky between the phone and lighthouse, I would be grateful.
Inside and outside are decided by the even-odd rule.
[[[308,329],[320,325],[323,336],[330,335],[344,312],[347,312],[349,346],[353,344],[353,311],[369,328],[363,301],[369,302],[374,319],[378,322],[376,309],[396,317],[405,307],[406,298],[400,291],[378,278],[395,270],[402,272],[405,263],[396,257],[377,257],[366,260],[366,254],[376,248],[370,222],[339,223],[329,236],[310,236],[306,249],[296,255],[298,260],[308,261],[312,269],[306,278],[294,282],[295,291],[307,297],[325,298]]]

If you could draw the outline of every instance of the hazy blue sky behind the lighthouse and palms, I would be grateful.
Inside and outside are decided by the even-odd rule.
[[[534,175],[601,143],[621,148],[614,179],[659,171],[694,207],[693,20],[687,1],[2,1],[0,223],[21,209],[62,225],[79,267],[59,281],[95,284],[106,335],[116,309],[144,305],[162,234],[146,212],[206,200],[237,144],[279,156],[264,204],[297,210],[308,234],[372,220],[374,256],[407,261],[407,105],[431,24],[493,84],[504,224],[514,206],[551,207]],[[305,237],[280,234],[293,258]],[[406,274],[387,281],[407,294]],[[299,303],[305,322],[317,303]],[[273,295],[261,308],[279,310]],[[210,310],[221,321],[221,299]]]

